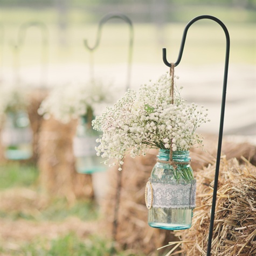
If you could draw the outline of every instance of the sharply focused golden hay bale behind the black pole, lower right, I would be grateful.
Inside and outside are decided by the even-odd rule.
[[[245,160],[245,159],[244,159]],[[179,231],[184,255],[206,255],[215,165],[197,172],[192,227]],[[256,255],[256,167],[236,158],[220,163],[211,255]]]

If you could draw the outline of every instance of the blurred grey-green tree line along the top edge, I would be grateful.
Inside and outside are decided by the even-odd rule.
[[[255,0],[1,0],[1,8],[32,8],[36,10],[55,9],[60,15],[60,27],[65,27],[67,13],[77,9],[89,14],[87,22],[98,22],[108,12],[122,12],[133,22],[162,24],[165,22],[186,22],[192,10],[203,13],[214,8],[229,20],[230,16],[237,22],[255,22]],[[200,11],[199,11],[200,10]],[[240,11],[250,13],[246,18],[239,15]],[[226,13],[226,15],[225,15]],[[236,16],[234,18],[234,16]],[[243,15],[242,15],[243,16]],[[243,16],[244,17],[244,16]]]

